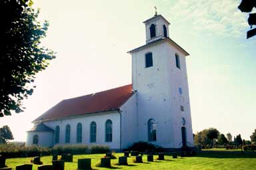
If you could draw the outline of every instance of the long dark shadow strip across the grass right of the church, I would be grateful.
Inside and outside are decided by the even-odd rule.
[[[195,157],[211,157],[211,158],[256,158],[255,153],[227,152],[227,151],[201,151]]]

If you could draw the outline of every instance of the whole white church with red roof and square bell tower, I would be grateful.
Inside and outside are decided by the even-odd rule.
[[[186,57],[162,15],[144,21],[146,44],[128,53],[132,84],[59,102],[27,131],[26,145],[109,145],[137,141],[193,147]]]

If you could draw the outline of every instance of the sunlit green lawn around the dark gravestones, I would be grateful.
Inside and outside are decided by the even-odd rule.
[[[115,155],[121,156],[123,153],[116,153]],[[91,158],[93,169],[108,169],[102,167],[96,167],[99,163],[100,158],[104,154],[94,155],[74,155],[73,163],[65,163],[65,170],[77,169],[77,159],[79,158]],[[157,158],[155,155],[154,159]],[[29,163],[31,158],[14,158],[7,159],[6,164],[9,167],[15,167],[22,163]],[[147,162],[147,156],[143,156],[144,163],[133,163],[133,157],[128,158],[129,165],[119,166],[117,165],[118,159],[112,159],[110,169],[198,169],[198,170],[255,170],[256,169],[256,154],[234,154],[234,153],[197,153],[196,157],[178,157],[173,159],[171,156],[165,156],[165,161],[157,161],[153,163]],[[51,156],[41,157],[43,164],[51,163]],[[33,165],[33,169],[37,169],[37,165]]]

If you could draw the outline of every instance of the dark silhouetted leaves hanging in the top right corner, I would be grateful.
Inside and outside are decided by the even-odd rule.
[[[255,0],[242,0],[240,5],[238,6],[238,9],[240,9],[241,12],[250,13],[253,10],[253,7],[256,7]],[[248,24],[251,26],[251,28],[253,27],[253,25],[256,25],[256,13],[249,14]],[[255,35],[256,28],[247,31],[247,39]]]

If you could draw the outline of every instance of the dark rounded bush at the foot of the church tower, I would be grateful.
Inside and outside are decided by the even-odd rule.
[[[161,151],[162,147],[153,145],[151,143],[147,143],[145,141],[139,141],[139,142],[133,143],[133,145],[131,145],[128,148],[128,150],[129,151],[140,151],[140,152],[143,152],[143,151],[156,151],[156,150],[157,151]]]

